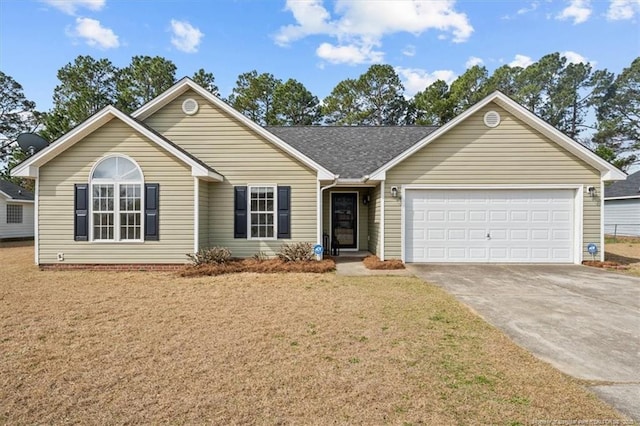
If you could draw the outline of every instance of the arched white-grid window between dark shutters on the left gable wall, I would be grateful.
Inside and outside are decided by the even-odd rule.
[[[91,239],[142,241],[140,167],[122,155],[106,157],[91,174]]]

